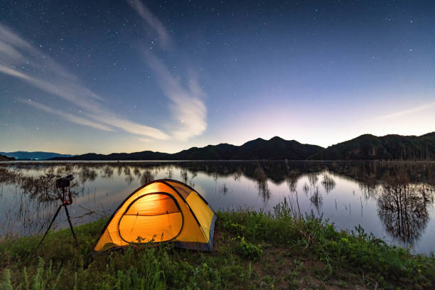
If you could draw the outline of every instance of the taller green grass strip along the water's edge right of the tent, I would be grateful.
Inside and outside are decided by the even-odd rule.
[[[223,232],[244,237],[247,242],[287,245],[290,253],[325,263],[329,274],[353,271],[387,287],[435,286],[434,257],[389,246],[365,233],[362,227],[351,232],[336,230],[328,220],[313,213],[301,215],[286,200],[276,205],[272,213],[233,211],[220,213],[220,218],[225,220]]]

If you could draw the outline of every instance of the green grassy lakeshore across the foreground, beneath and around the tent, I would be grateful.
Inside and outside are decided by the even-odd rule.
[[[166,245],[92,254],[104,223],[0,242],[1,289],[434,289],[435,258],[313,215],[218,213],[213,252]]]

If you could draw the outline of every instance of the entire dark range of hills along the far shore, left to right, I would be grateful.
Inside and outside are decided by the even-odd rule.
[[[232,144],[192,147],[175,154],[141,151],[88,153],[77,156],[48,152],[1,153],[17,159],[50,160],[435,160],[435,132],[422,136],[364,134],[324,149],[321,146],[301,144],[275,136],[247,141],[241,146]]]

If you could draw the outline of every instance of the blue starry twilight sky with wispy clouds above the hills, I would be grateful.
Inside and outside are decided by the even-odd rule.
[[[435,131],[433,1],[9,1],[0,151]]]

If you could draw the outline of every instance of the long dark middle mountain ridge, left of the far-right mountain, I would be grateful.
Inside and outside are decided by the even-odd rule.
[[[287,141],[274,137],[270,140],[255,139],[242,146],[218,144],[202,148],[192,147],[175,154],[153,151],[109,155],[90,153],[67,158],[56,157],[52,160],[304,160],[322,149],[321,146],[301,144],[298,141]]]

